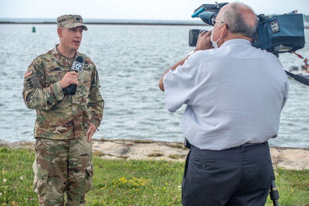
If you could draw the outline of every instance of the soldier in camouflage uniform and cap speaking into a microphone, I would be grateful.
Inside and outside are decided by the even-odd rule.
[[[64,205],[64,192],[67,205],[84,205],[91,189],[91,137],[102,120],[104,100],[94,63],[77,51],[83,30],[81,16],[58,17],[60,43],[36,57],[24,75],[23,99],[36,109],[33,190],[40,205]],[[77,56],[84,64],[78,73],[71,70]],[[75,95],[64,92],[70,84],[77,85]]]

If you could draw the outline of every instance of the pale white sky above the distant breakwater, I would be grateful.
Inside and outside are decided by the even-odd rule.
[[[218,0],[0,0],[0,18],[55,18],[79,14],[83,19],[191,20],[202,4]],[[308,0],[240,0],[256,14],[284,14],[298,10],[309,14]]]

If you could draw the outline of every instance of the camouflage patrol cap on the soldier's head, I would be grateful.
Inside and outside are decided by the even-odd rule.
[[[66,14],[57,18],[57,28],[66,27],[72,29],[75,27],[83,27],[87,31],[87,27],[83,24],[83,18],[80,15]]]

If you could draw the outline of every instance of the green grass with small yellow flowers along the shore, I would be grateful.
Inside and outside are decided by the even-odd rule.
[[[96,155],[86,206],[181,205],[184,162],[107,160]],[[0,148],[0,206],[38,205],[32,190],[34,156],[32,149]],[[309,170],[277,168],[275,172],[279,205],[309,206]],[[272,201],[268,199],[265,205]]]

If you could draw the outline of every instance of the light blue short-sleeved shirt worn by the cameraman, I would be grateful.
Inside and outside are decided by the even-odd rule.
[[[223,150],[277,137],[289,83],[278,58],[231,39],[196,51],[163,77],[167,109],[187,107],[180,128],[199,149]]]

